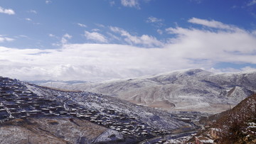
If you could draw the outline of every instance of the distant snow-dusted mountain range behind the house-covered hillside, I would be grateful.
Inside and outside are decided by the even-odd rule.
[[[230,109],[255,91],[256,71],[213,73],[191,69],[106,82],[41,85],[95,92],[167,110],[217,113]]]

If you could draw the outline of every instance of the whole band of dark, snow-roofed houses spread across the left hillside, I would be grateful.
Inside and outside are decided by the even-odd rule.
[[[14,118],[60,116],[81,118],[98,125],[112,128],[131,138],[151,138],[169,134],[165,130],[156,130],[135,117],[127,116],[113,109],[90,109],[73,102],[62,101],[47,96],[33,94],[26,84],[16,79],[0,77],[0,122]]]

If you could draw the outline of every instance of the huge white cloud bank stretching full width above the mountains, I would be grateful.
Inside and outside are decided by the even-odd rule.
[[[0,73],[22,80],[100,81],[187,68],[210,70],[220,62],[256,65],[255,31],[200,18],[191,18],[188,23],[197,26],[166,28],[168,40],[134,36],[122,28],[110,27],[129,45],[110,44],[104,35],[85,31],[85,38],[97,43],[67,43],[72,36],[65,34],[59,49],[1,47]]]

